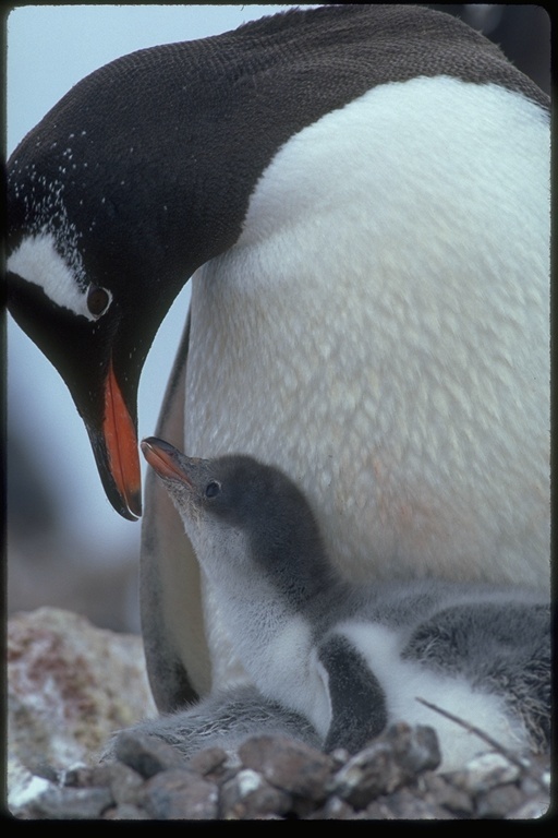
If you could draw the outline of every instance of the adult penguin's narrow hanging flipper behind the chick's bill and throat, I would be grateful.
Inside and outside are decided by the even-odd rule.
[[[165,398],[157,435],[183,446],[190,313]],[[209,691],[199,570],[168,492],[149,469],[141,554],[142,633],[149,683],[160,713],[184,707]]]

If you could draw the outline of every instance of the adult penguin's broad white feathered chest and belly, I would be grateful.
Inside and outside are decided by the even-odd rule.
[[[456,80],[283,146],[193,279],[185,450],[307,492],[353,578],[548,577],[548,129]]]

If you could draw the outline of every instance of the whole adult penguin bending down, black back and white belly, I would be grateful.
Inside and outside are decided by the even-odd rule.
[[[192,303],[157,433],[308,494],[349,578],[548,580],[548,101],[420,7],[293,10],[125,56],[9,161],[9,308],[136,517],[136,390]],[[146,488],[158,706],[241,678]]]

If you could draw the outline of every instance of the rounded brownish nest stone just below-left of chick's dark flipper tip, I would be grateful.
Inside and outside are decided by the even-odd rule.
[[[278,789],[311,801],[326,798],[335,763],[311,745],[282,737],[252,737],[239,747],[239,755],[245,768]]]

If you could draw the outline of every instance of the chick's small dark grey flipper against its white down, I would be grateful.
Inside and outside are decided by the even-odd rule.
[[[319,660],[328,674],[331,725],[325,751],[360,751],[387,725],[386,696],[363,656],[339,634],[319,646]]]

